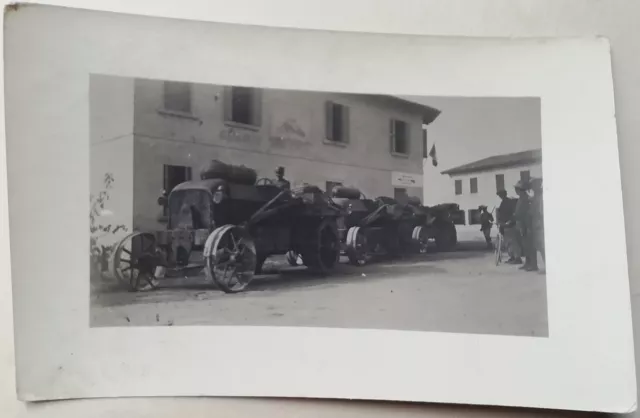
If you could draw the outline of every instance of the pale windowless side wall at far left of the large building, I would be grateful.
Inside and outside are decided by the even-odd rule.
[[[133,227],[133,91],[131,79],[90,78],[90,193],[104,190],[104,176],[111,173],[114,182],[98,222],[129,229]],[[99,242],[109,245],[124,234],[104,234]]]

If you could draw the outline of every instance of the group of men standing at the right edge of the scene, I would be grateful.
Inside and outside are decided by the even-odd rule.
[[[506,190],[497,193],[502,200],[496,214],[497,224],[509,253],[506,263],[522,264],[524,257],[520,269],[537,271],[538,252],[545,260],[542,179],[519,181],[515,191],[517,198],[509,197]]]

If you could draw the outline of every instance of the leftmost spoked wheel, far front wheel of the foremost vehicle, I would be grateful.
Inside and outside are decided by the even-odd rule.
[[[112,260],[112,272],[130,291],[155,288],[154,273],[159,265],[156,238],[147,232],[134,232],[118,243]]]

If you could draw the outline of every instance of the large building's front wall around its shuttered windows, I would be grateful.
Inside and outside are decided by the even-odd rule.
[[[163,110],[163,82],[136,80],[134,223],[141,229],[161,228],[157,197],[163,188],[163,166],[192,168],[193,178],[212,159],[244,164],[258,177],[274,178],[286,168],[292,185],[342,182],[369,197],[393,196],[392,172],[422,176],[422,115],[414,107],[382,98],[347,94],[262,91],[259,127],[238,126],[224,118],[225,89],[192,85],[189,115]],[[325,140],[325,102],[349,107],[349,140]],[[390,119],[410,126],[409,155],[390,152]],[[422,198],[422,188],[407,188]]]

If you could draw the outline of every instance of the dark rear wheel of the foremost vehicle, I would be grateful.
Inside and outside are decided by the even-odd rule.
[[[309,244],[301,251],[302,261],[309,270],[327,274],[338,263],[340,236],[335,221],[323,220],[311,231]]]

